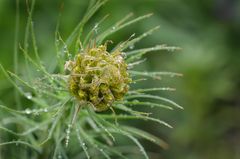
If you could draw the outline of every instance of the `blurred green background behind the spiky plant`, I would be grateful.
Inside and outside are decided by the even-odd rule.
[[[87,0],[38,0],[33,15],[43,61],[54,53],[54,31],[61,13],[63,39],[82,17]],[[142,87],[169,86],[176,92],[162,93],[184,107],[184,111],[150,110],[174,126],[142,125],[170,145],[168,150],[145,143],[152,158],[239,159],[240,158],[240,1],[239,0],[109,0],[90,21],[89,27],[110,14],[99,31],[133,12],[154,16],[115,34],[115,44],[160,25],[152,36],[135,47],[156,44],[179,46],[181,51],[152,52],[142,70],[173,71],[181,78],[143,83]],[[15,1],[0,0],[0,63],[13,70]],[[27,20],[26,1],[20,0],[20,43]],[[23,57],[19,57],[20,63]],[[0,103],[13,102],[13,90],[0,74]],[[140,124],[140,123],[136,123]]]

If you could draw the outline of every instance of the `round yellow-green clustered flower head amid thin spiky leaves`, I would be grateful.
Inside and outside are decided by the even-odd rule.
[[[107,110],[128,92],[132,81],[122,52],[109,53],[106,45],[87,49],[66,63],[69,90],[77,100],[91,103],[96,111]]]

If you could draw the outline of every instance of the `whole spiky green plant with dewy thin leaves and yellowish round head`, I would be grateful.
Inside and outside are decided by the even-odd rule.
[[[24,150],[18,153],[21,158],[128,158],[128,155],[132,153],[133,144],[139,148],[141,156],[148,158],[147,152],[138,141],[139,138],[149,140],[163,148],[167,147],[167,144],[157,136],[126,125],[121,120],[147,120],[171,128],[166,122],[151,117],[148,112],[134,110],[132,106],[181,108],[169,99],[149,94],[151,91],[172,89],[140,88],[132,90],[130,86],[128,91],[128,85],[131,78],[133,79],[132,85],[134,85],[142,78],[159,79],[164,75],[179,76],[180,74],[171,72],[133,70],[134,65],[144,62],[141,57],[148,52],[178,48],[158,45],[128,51],[129,46],[150,35],[158,27],[138,37],[131,36],[129,40],[119,43],[112,51],[108,51],[106,45],[102,45],[109,35],[149,18],[151,14],[135,19],[130,19],[132,14],[129,14],[109,29],[98,32],[93,38],[91,35],[97,29],[97,25],[103,21],[101,20],[93,26],[86,37],[80,39],[85,24],[105,2],[92,3],[91,1],[85,16],[66,40],[61,38],[57,29],[55,34],[57,64],[48,70],[45,67],[48,64],[43,65],[38,55],[32,23],[34,7],[34,1],[32,1],[24,46],[20,47],[26,61],[25,74],[21,76],[16,74],[18,72],[17,45],[15,46],[16,73],[6,71],[1,66],[2,72],[17,90],[15,99],[18,107],[12,109],[11,106],[0,105],[1,111],[9,113],[7,118],[1,120],[1,132],[5,131],[17,138],[14,141],[1,142],[0,146],[10,145],[9,148],[13,152],[19,152],[15,146],[11,145],[25,145]],[[31,51],[28,49],[29,38],[32,41],[34,58],[29,55]],[[126,56],[122,56],[124,51]],[[90,57],[94,58],[94,61],[91,62]],[[130,70],[127,70],[127,66]],[[87,71],[87,68],[90,70]],[[100,83],[93,82],[95,78]],[[98,89],[98,91],[94,89]],[[31,105],[22,106],[19,100],[21,96],[30,100]],[[141,100],[142,98],[151,99],[151,102]],[[107,108],[111,108],[112,111],[96,112],[96,110],[103,111]],[[15,128],[12,129],[14,126]],[[128,148],[119,147],[117,142],[122,139],[120,136],[130,139],[133,144],[126,145]]]

